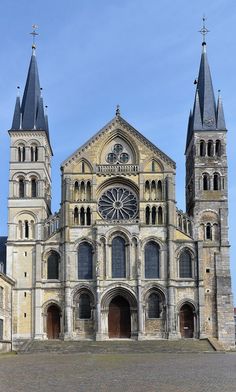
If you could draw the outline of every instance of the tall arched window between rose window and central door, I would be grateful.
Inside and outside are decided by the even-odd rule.
[[[112,240],[112,277],[126,277],[126,254],[125,240],[122,237],[115,237]]]

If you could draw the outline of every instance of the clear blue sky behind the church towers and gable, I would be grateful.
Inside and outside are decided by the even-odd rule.
[[[193,81],[207,16],[208,59],[221,89],[228,127],[231,265],[236,298],[236,2],[235,0],[1,0],[0,217],[7,233],[9,138],[16,86],[25,84],[31,26],[39,26],[37,60],[48,105],[53,211],[60,203],[60,164],[115,114],[177,163],[176,198],[185,210],[184,147]],[[236,302],[236,301],[235,301]]]

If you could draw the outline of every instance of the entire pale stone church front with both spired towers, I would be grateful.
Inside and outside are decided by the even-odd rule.
[[[68,340],[215,337],[234,345],[226,126],[203,42],[186,143],[186,213],[175,162],[121,115],[61,165],[51,158],[33,47],[10,135],[7,274],[12,336]]]

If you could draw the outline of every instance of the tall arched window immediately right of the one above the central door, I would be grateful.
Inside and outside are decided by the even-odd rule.
[[[145,246],[145,278],[159,278],[159,245],[150,241]]]

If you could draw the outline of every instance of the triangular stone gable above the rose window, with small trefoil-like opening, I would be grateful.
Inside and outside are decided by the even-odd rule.
[[[118,151],[118,145],[121,151]],[[142,167],[150,166],[153,161],[156,168],[175,169],[171,158],[120,116],[116,116],[78,148],[62,163],[62,169],[80,172],[81,160],[90,162],[91,168],[96,164],[109,165],[114,160],[113,164],[141,164]]]

